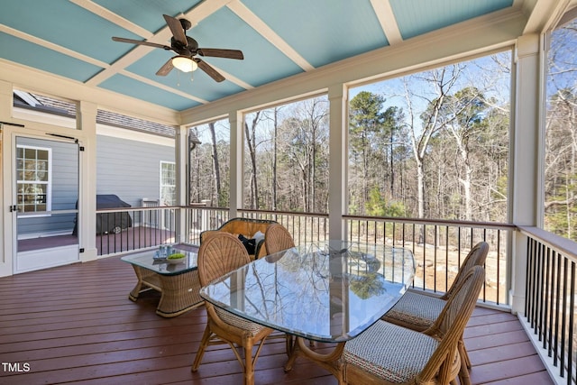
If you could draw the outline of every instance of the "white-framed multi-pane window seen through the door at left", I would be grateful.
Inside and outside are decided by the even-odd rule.
[[[51,160],[50,148],[16,146],[16,195],[19,212],[50,211]]]

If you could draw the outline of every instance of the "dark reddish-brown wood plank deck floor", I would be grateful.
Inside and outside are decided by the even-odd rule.
[[[226,346],[210,348],[190,372],[204,331],[204,307],[175,318],[154,313],[158,295],[128,299],[136,279],[111,257],[0,278],[0,383],[239,384]],[[548,384],[543,363],[517,317],[478,307],[465,332],[475,384]],[[329,346],[319,345],[320,350]],[[327,371],[299,359],[285,373],[281,340],[257,362],[257,384],[334,384]]]

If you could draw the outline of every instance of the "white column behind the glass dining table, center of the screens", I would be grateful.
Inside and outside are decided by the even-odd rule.
[[[329,100],[329,239],[346,239],[348,165],[348,93],[342,83],[328,88]]]

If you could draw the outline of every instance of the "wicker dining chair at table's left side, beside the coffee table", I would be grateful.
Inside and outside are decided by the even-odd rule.
[[[211,281],[224,274],[249,263],[250,257],[243,243],[233,234],[222,232],[206,240],[198,250],[198,278],[200,284],[206,286]],[[234,355],[244,370],[244,384],[254,383],[254,365],[261,353],[264,340],[272,329],[255,324],[240,316],[235,316],[225,310],[206,304],[206,329],[202,336],[197,356],[192,364],[192,371],[197,371],[206,347],[213,344],[229,344]],[[234,346],[244,348],[244,359]],[[252,347],[258,344],[254,357]]]

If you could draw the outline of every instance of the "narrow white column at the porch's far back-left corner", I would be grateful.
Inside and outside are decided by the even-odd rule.
[[[177,174],[177,206],[188,206],[188,128],[180,125],[175,128],[174,136],[174,159],[176,160],[176,174]],[[187,209],[180,209],[177,220],[177,234],[175,234],[177,243],[188,242],[188,227],[187,227]]]

